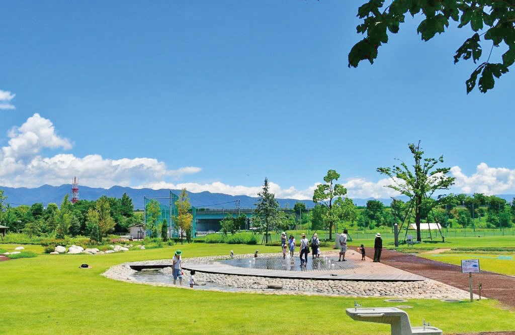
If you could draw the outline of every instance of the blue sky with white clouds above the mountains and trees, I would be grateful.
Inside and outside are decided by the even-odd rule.
[[[336,169],[351,197],[387,197],[375,169],[421,139],[453,191],[515,192],[515,77],[467,95],[470,29],[422,42],[410,17],[348,68],[360,3],[4,2],[0,185],[252,195],[268,177],[310,198]]]

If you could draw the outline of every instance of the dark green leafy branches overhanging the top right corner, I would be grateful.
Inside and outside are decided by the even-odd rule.
[[[417,33],[422,40],[432,39],[449,27],[449,21],[459,22],[458,28],[470,25],[473,34],[457,50],[454,63],[472,58],[474,63],[483,55],[483,45],[489,41],[488,58],[481,62],[465,82],[471,92],[479,77],[479,91],[493,89],[494,78],[508,72],[515,62],[515,3],[512,0],[369,0],[358,8],[357,16],[363,19],[358,33],[366,34],[349,52],[349,67],[357,67],[362,60],[371,64],[377,58],[377,49],[388,42],[388,32],[397,33],[406,14],[420,17]],[[493,47],[504,45],[501,63],[490,63]]]

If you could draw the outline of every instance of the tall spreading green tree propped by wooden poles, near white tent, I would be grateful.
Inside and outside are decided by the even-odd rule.
[[[435,168],[438,163],[443,163],[443,156],[436,158],[424,158],[424,152],[418,145],[408,144],[409,151],[413,154],[413,171],[404,162],[400,166],[379,167],[377,172],[386,174],[394,184],[386,187],[392,188],[413,201],[415,210],[415,224],[417,226],[417,241],[421,241],[420,219],[423,210],[422,201],[431,198],[433,193],[439,189],[449,189],[454,184],[453,177],[447,177],[450,168]]]

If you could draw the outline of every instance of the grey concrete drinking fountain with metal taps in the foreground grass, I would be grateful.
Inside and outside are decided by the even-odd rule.
[[[345,312],[355,321],[389,324],[391,326],[391,335],[442,335],[441,329],[426,324],[425,320],[422,323],[422,327],[411,327],[408,314],[396,307],[354,307],[347,308]]]

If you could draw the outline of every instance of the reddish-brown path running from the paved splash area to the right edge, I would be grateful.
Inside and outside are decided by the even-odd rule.
[[[367,248],[367,254],[373,255],[374,250]],[[461,267],[426,259],[411,254],[383,249],[381,262],[407,272],[440,281],[464,291],[469,291],[469,275],[461,273]],[[478,284],[483,284],[482,295],[499,300],[510,308],[515,308],[515,277],[488,271],[474,273],[473,289],[479,294]]]

